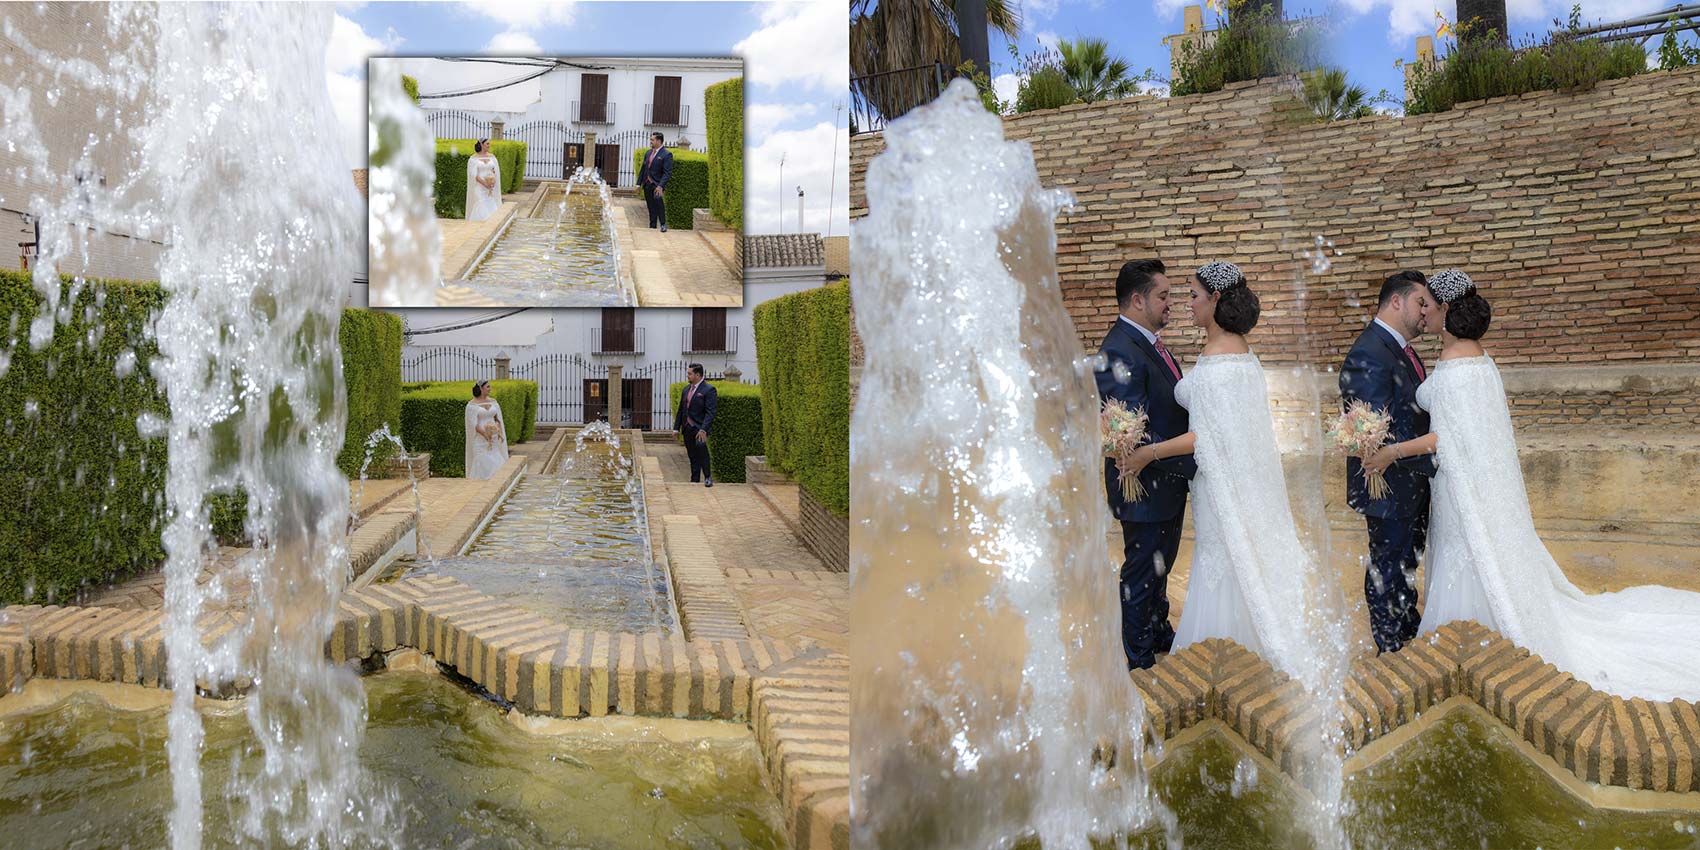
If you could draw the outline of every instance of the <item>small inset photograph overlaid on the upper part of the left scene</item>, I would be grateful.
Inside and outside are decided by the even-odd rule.
[[[369,70],[371,306],[743,304],[743,60]]]

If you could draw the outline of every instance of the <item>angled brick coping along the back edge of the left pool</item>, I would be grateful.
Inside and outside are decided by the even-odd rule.
[[[556,717],[750,717],[755,677],[796,656],[780,641],[694,639],[570,629],[444,576],[343,593],[326,644],[343,663],[415,648],[515,704]],[[207,641],[238,612],[202,619]],[[0,624],[0,680],[73,678],[167,687],[163,612],[12,607]]]

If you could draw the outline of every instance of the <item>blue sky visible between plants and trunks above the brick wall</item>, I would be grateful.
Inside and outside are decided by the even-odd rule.
[[[1552,19],[1567,19],[1572,0],[1510,0],[1508,14],[1513,39],[1528,34],[1545,34]],[[1584,0],[1583,20],[1615,22],[1627,17],[1669,8],[1676,0]],[[1025,54],[1040,44],[1054,44],[1057,37],[1076,39],[1093,36],[1108,41],[1110,51],[1142,71],[1153,68],[1168,76],[1168,48],[1164,36],[1182,31],[1185,0],[1025,0],[1022,3],[1022,36],[1017,48]],[[1197,5],[1202,5],[1197,3]],[[1448,20],[1455,17],[1454,0],[1340,0],[1306,2],[1287,0],[1289,17],[1323,15],[1333,36],[1329,39],[1331,63],[1346,70],[1348,80],[1375,95],[1387,88],[1402,97],[1404,71],[1396,60],[1416,58],[1416,37],[1435,34],[1435,12]],[[1204,10],[1205,26],[1214,26],[1216,14]],[[1686,39],[1693,42],[1690,36]],[[1008,71],[1008,49],[998,36],[991,39],[991,58],[1000,71]],[[1652,44],[1656,46],[1656,42]],[[1015,78],[1001,82],[1013,94]]]

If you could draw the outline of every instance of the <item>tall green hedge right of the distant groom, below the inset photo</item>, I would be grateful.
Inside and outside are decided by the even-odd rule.
[[[755,308],[767,462],[833,513],[850,513],[850,284]]]

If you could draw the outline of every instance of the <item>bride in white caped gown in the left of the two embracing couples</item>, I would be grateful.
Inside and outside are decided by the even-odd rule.
[[[1319,581],[1299,542],[1263,366],[1246,345],[1258,298],[1238,267],[1212,262],[1193,275],[1188,304],[1205,343],[1175,398],[1193,430],[1139,450],[1142,462],[1188,452],[1198,462],[1192,576],[1175,649],[1227,638],[1309,682],[1311,643],[1321,639],[1314,627],[1326,619],[1319,610],[1331,585]]]

